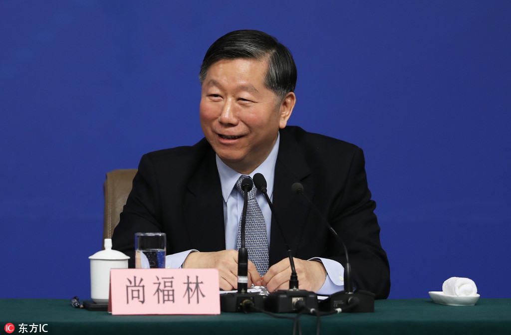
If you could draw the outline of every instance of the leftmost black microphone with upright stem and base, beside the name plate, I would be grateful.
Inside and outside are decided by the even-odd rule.
[[[241,189],[244,193],[243,211],[241,213],[240,250],[238,250],[238,292],[220,294],[220,309],[223,312],[258,312],[263,309],[263,296],[248,293],[248,250],[245,247],[245,223],[247,219],[248,193],[253,183],[250,177],[243,179]]]

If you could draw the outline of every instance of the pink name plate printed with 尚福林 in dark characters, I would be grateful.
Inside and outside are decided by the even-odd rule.
[[[112,315],[220,314],[217,269],[112,269]]]

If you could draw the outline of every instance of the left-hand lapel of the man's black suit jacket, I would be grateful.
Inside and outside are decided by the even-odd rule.
[[[201,251],[225,249],[223,198],[215,152],[208,147],[188,183],[184,215],[191,246]]]

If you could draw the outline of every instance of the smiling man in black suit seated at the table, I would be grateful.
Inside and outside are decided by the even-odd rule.
[[[168,266],[219,269],[220,288],[237,285],[236,232],[242,196],[239,176],[263,173],[275,216],[295,257],[300,289],[342,290],[342,247],[303,198],[305,193],[346,243],[359,289],[386,298],[389,265],[373,212],[362,151],[354,145],[286,127],[296,102],[296,67],[287,48],[258,31],[231,32],[207,51],[201,66],[200,122],[205,138],[143,156],[121,221],[115,249],[134,253],[134,233],[167,233]],[[264,198],[269,269],[249,262],[249,285],[289,286],[283,237]],[[199,252],[196,252],[199,251]],[[132,257],[133,258],[133,257]]]

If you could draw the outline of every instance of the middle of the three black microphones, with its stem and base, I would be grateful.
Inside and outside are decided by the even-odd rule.
[[[270,293],[264,300],[264,307],[268,312],[274,313],[291,313],[298,312],[301,309],[318,308],[317,295],[314,292],[299,290],[298,289],[298,275],[294,267],[293,254],[289,247],[282,226],[278,223],[273,204],[271,203],[270,197],[268,196],[268,190],[266,189],[266,179],[260,173],[256,173],[253,177],[255,187],[261,191],[266,198],[268,205],[270,206],[271,214],[281,233],[282,240],[286,245],[288,251],[289,264],[291,266],[291,278],[289,279],[289,290],[278,290]]]

